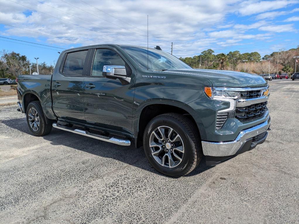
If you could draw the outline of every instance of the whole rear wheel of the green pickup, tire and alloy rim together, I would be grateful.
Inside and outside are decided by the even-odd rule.
[[[33,101],[28,104],[26,118],[30,131],[33,135],[48,135],[52,130],[52,124],[47,124],[42,106],[39,101]]]

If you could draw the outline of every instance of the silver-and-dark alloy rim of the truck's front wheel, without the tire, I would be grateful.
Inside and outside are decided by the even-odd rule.
[[[151,133],[149,148],[156,162],[168,168],[178,166],[185,152],[181,136],[168,126],[159,126]]]

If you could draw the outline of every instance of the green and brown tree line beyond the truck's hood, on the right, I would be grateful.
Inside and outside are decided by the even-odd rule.
[[[180,57],[179,59],[193,68],[231,70],[253,74],[269,73],[270,70],[270,74],[276,74],[277,72],[295,72],[294,56],[299,56],[299,45],[297,48],[290,50],[281,49],[272,52],[263,58],[259,52],[241,54],[239,51],[230,51],[228,54],[220,53],[215,55],[212,49],[208,49],[199,55],[186,58]]]

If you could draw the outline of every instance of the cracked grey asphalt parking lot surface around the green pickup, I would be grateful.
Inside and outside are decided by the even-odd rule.
[[[299,223],[299,80],[273,80],[265,143],[178,179],[142,149],[59,129],[30,134],[0,108],[0,223]]]

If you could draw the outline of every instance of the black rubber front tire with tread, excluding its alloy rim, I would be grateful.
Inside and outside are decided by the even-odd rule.
[[[184,155],[176,167],[170,168],[162,166],[152,155],[149,140],[152,132],[159,126],[168,126],[174,129],[181,137],[184,145]],[[158,172],[171,177],[181,177],[193,171],[203,155],[199,132],[195,124],[187,117],[176,113],[162,114],[153,118],[144,130],[143,146],[149,163]]]

